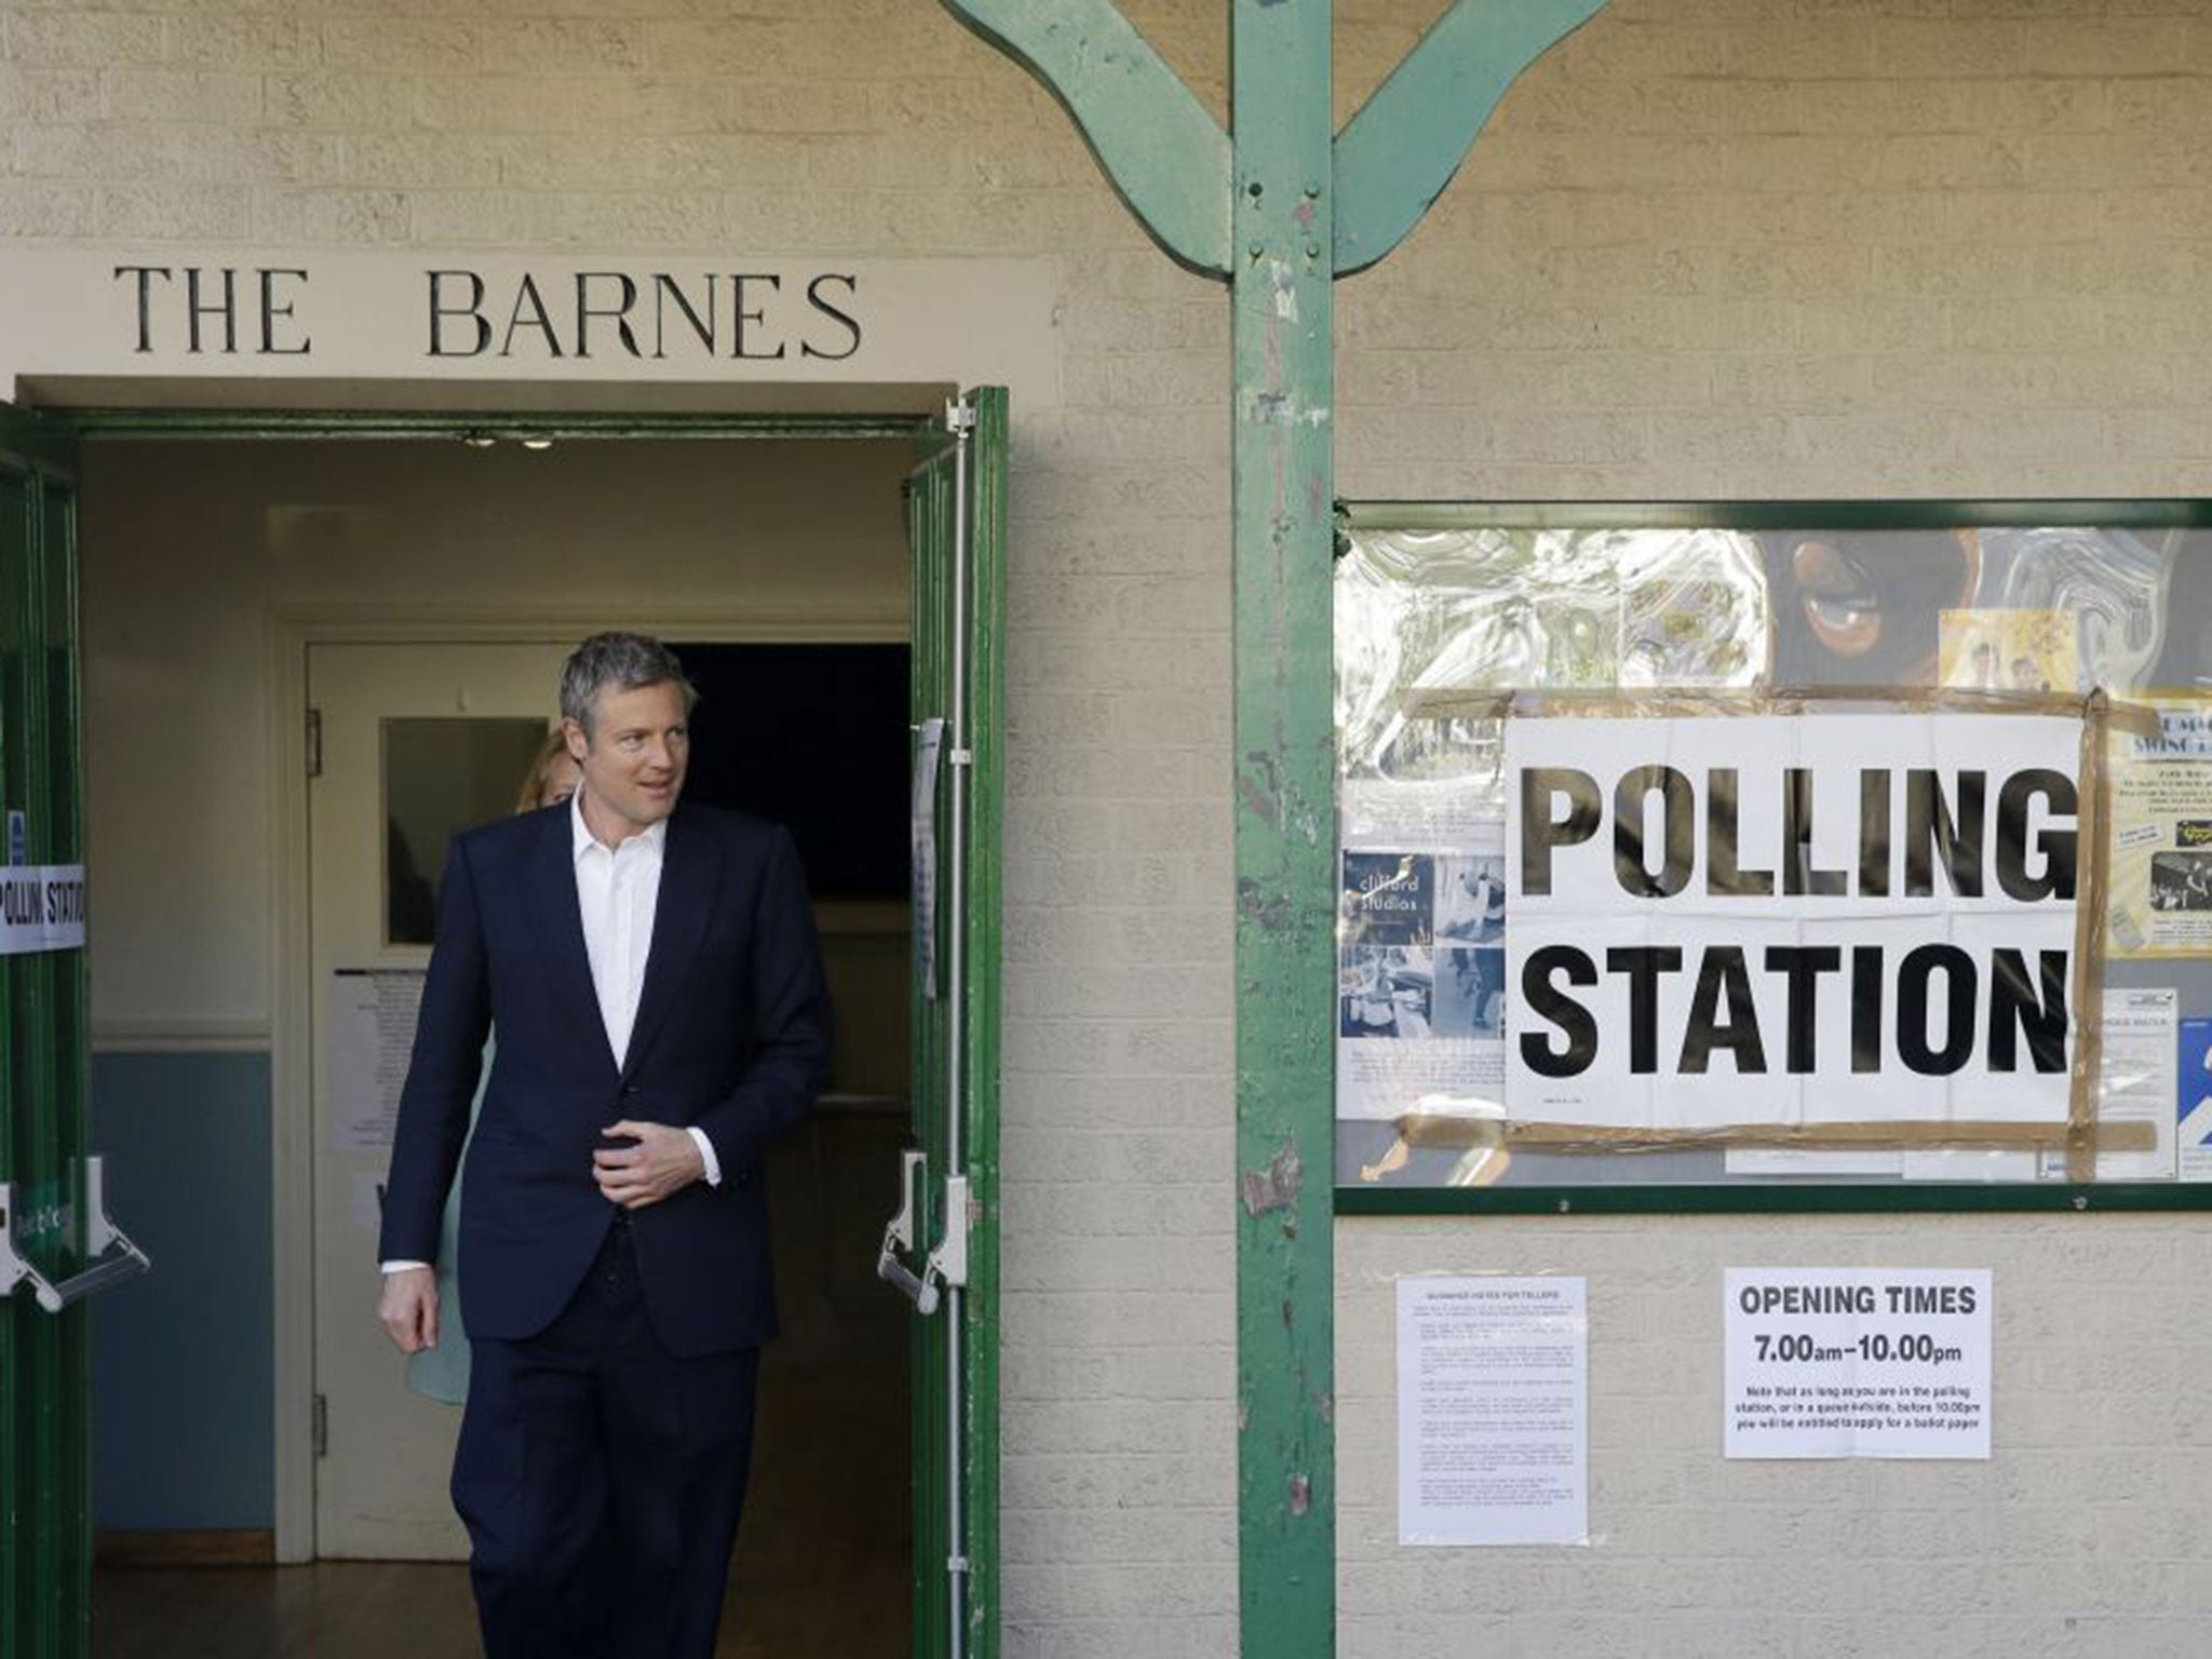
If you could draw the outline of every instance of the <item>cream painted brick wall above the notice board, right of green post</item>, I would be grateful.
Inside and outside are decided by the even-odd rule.
[[[1338,484],[2203,489],[2208,102],[2194,0],[1615,0],[1338,292]]]

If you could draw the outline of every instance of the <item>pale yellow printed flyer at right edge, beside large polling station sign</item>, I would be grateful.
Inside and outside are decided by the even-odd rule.
[[[2115,732],[2106,949],[2212,956],[2212,699],[2152,692],[2159,737]]]

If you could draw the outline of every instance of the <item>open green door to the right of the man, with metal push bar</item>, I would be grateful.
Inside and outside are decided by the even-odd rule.
[[[914,557],[914,1144],[883,1276],[914,1301],[914,1652],[998,1659],[998,975],[1006,394],[953,403]]]

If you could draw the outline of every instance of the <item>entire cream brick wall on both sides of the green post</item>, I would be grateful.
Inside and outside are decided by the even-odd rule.
[[[1223,9],[1128,9],[1219,108]],[[1433,9],[1338,0],[1340,111]],[[2212,0],[1617,0],[1340,290],[1340,491],[2203,493],[2208,108]],[[1064,259],[1062,403],[1015,409],[1006,1648],[1232,1652],[1219,290],[922,0],[0,2],[0,232]],[[2181,1652],[2208,1243],[1347,1225],[1343,1648]],[[1714,1458],[1712,1276],[1816,1259],[1997,1270],[1989,1467]],[[1431,1267],[1590,1274],[1597,1548],[1389,1544],[1378,1310]]]

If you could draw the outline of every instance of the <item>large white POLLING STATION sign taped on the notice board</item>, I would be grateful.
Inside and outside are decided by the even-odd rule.
[[[2079,757],[2042,712],[1506,721],[1506,1108],[2062,1126]]]

